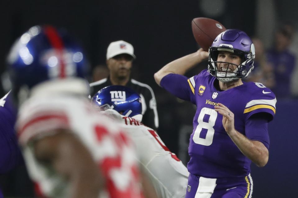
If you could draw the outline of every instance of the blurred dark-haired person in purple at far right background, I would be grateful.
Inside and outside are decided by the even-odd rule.
[[[289,51],[294,29],[283,25],[275,33],[273,48],[267,51],[268,62],[272,64],[274,84],[271,88],[278,98],[290,97],[290,79],[296,65],[296,57]]]

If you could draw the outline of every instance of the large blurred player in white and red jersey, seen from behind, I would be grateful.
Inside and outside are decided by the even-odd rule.
[[[8,56],[19,106],[19,143],[46,197],[141,197],[132,144],[89,103],[81,48],[51,26],[34,26]]]

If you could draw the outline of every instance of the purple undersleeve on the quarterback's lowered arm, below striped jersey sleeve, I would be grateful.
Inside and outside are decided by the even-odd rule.
[[[263,115],[251,116],[245,122],[245,135],[250,140],[257,140],[269,149],[268,118]]]

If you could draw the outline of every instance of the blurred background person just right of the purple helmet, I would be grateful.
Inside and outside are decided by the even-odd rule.
[[[257,38],[252,38],[254,43],[256,56],[254,59],[254,69],[251,71],[250,75],[245,78],[245,81],[260,82],[268,88],[274,86],[274,74],[273,67],[268,63],[268,60],[264,51],[263,42]]]

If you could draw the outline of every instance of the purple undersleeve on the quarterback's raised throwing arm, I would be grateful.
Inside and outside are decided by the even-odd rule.
[[[186,76],[170,73],[161,79],[160,86],[172,95],[195,104],[195,96],[187,80]]]

